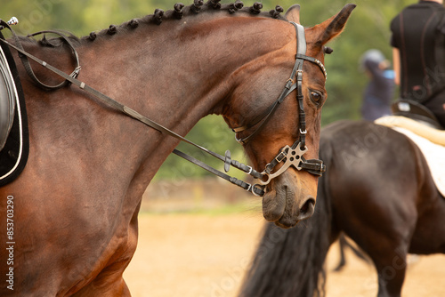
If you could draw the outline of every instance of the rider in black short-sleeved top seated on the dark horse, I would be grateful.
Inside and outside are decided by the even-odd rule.
[[[419,1],[391,22],[395,84],[401,99],[415,100],[445,126],[445,8]]]

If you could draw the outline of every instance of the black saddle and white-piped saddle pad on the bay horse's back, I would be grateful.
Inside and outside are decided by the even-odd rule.
[[[4,39],[1,32],[0,38]],[[19,176],[28,152],[28,120],[19,73],[10,49],[0,44],[0,187]]]

